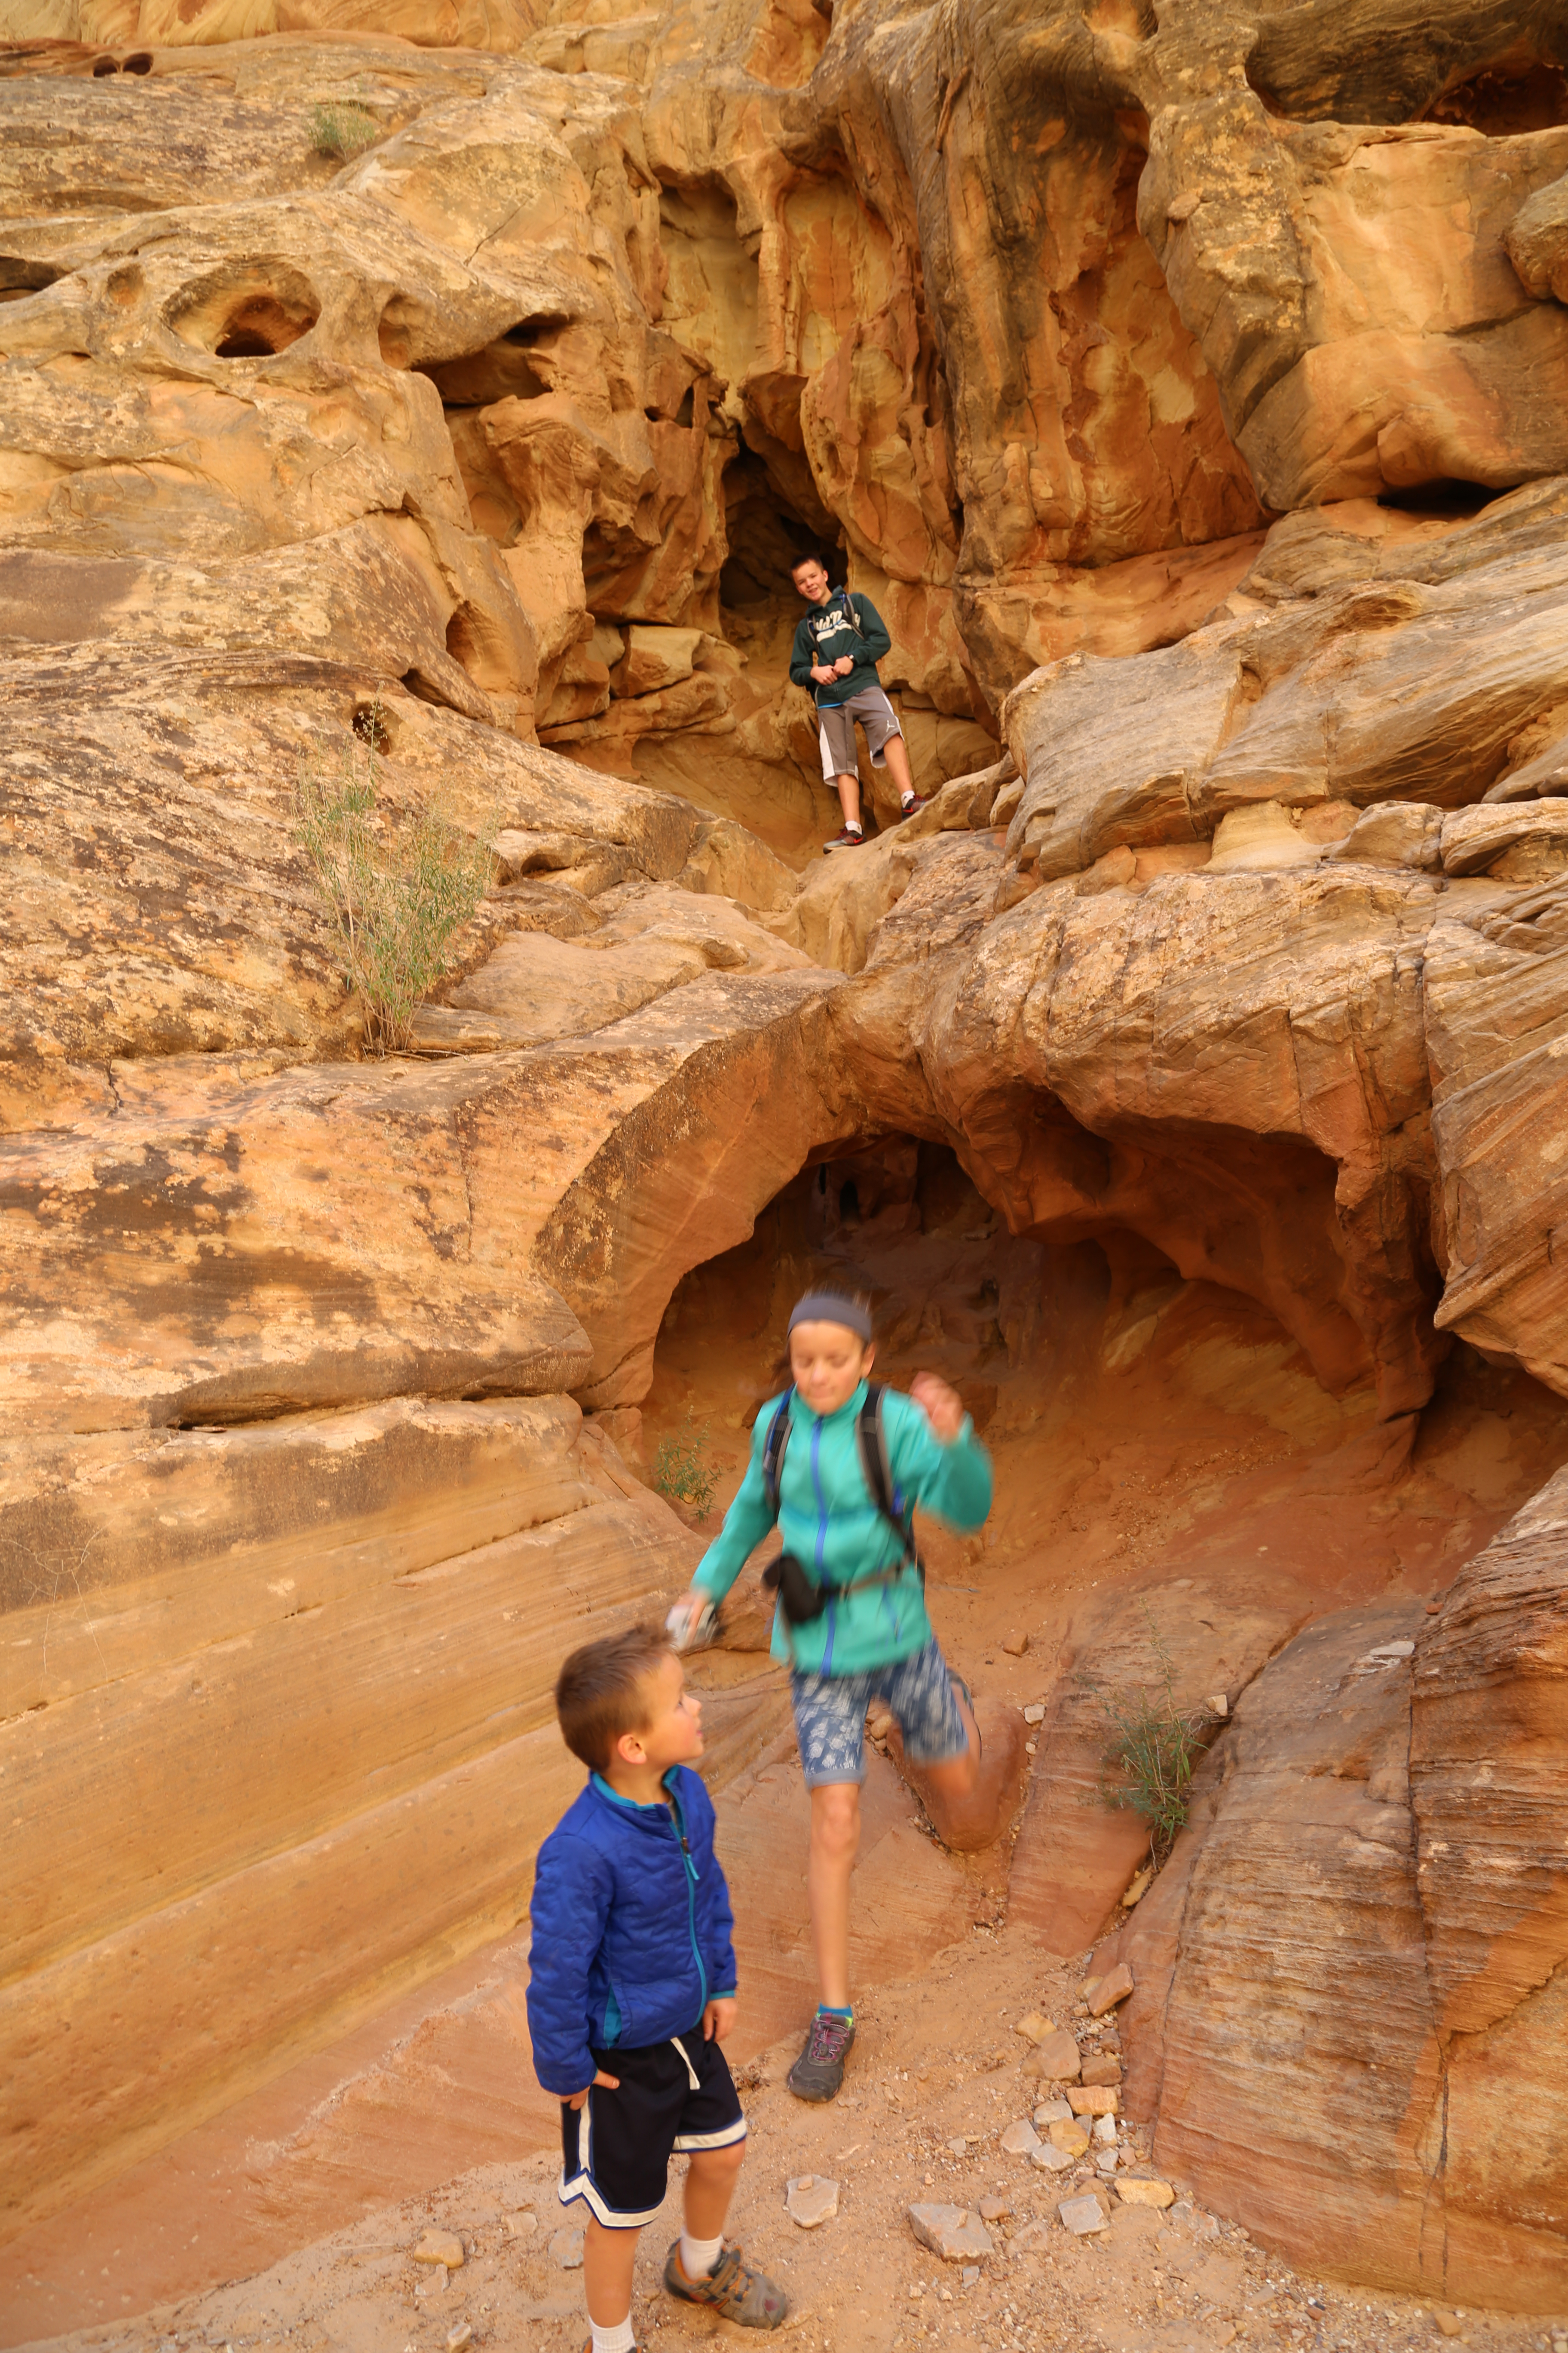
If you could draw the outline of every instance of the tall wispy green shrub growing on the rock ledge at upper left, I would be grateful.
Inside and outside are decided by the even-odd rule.
[[[397,1054],[414,1009],[447,969],[451,939],[484,896],[496,826],[463,833],[430,805],[395,824],[376,807],[386,741],[371,704],[357,713],[336,767],[320,751],[303,762],[294,838],[339,918],[346,981],[364,1000],[364,1040],[376,1054]]]

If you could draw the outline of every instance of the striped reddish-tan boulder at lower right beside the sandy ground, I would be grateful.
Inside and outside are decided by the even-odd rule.
[[[1121,1939],[1126,2101],[1159,2113],[1161,2167],[1314,2268],[1526,2311],[1563,2299],[1561,1511],[1559,1475],[1434,1621],[1298,1635]]]

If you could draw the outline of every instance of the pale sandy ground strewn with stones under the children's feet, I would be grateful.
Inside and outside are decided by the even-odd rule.
[[[1074,2240],[1058,2202],[1093,2169],[1044,2177],[1004,2155],[999,2134],[1030,2115],[1039,2085],[1023,2073],[1030,2045],[1016,2021],[1041,2009],[1086,2026],[1077,1967],[1039,1967],[1023,1939],[976,1932],[917,1984],[858,2009],[844,2094],[806,2108],[783,2087],[792,2047],[741,2071],[748,2162],[731,2235],[790,2294],[785,2337],[804,2353],[1218,2353],[1222,2346],[1302,2346],[1394,2353],[1441,2341],[1530,2346],[1568,2332],[1542,2320],[1446,2311],[1309,2280],[1265,2257],[1244,2231],[1180,2198],[1166,2214],[1121,2207],[1110,2228]],[[1114,2033],[1112,2033],[1114,2040]],[[966,2144],[954,2148],[954,2144]],[[1143,2134],[1126,2134],[1135,2165]],[[675,2160],[665,2214],[642,2235],[635,2320],[639,2341],[672,2348],[743,2332],[672,2304],[661,2289],[679,2228]],[[802,2231],[785,2212],[788,2181],[839,2184],[839,2212]],[[1175,2184],[1180,2191],[1180,2184]],[[1001,2198],[994,2252],[969,2273],[926,2254],[912,2202],[978,2209]],[[588,2341],[581,2271],[550,2252],[581,2219],[555,2200],[550,2155],[458,2174],[425,2198],[381,2207],[355,2228],[289,2254],[270,2271],[176,2306],[54,2339],[54,2353],[578,2353]],[[411,2259],[430,2226],[456,2231],[465,2261],[447,2280]],[[473,2334],[463,2339],[463,2329]]]

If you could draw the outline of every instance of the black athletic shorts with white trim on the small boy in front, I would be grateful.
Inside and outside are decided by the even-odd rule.
[[[741,2094],[719,2045],[703,2040],[701,2019],[689,2035],[632,2052],[602,2049],[592,2064],[618,2075],[621,2089],[595,2082],[581,2108],[562,2101],[557,2195],[562,2205],[585,2200],[611,2231],[639,2231],[665,2202],[677,2151],[745,2139]]]

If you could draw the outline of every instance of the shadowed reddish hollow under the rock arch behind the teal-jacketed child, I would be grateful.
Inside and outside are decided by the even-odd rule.
[[[870,1136],[816,1155],[748,1242],[684,1275],[642,1417],[621,1417],[644,1478],[663,1440],[701,1442],[703,1537],[788,1381],[792,1301],[835,1278],[875,1299],[879,1377],[943,1374],[992,1452],[985,1532],[922,1529],[938,1633],[957,1626],[978,1664],[1001,1626],[1060,1624],[1105,1584],[1159,1598],[1218,1574],[1314,1609],[1441,1591],[1568,1457],[1561,1400],[1465,1344],[1394,1445],[1371,1393],[1328,1395],[1253,1299],[1185,1280],[1131,1231],[1013,1235],[945,1144]]]

